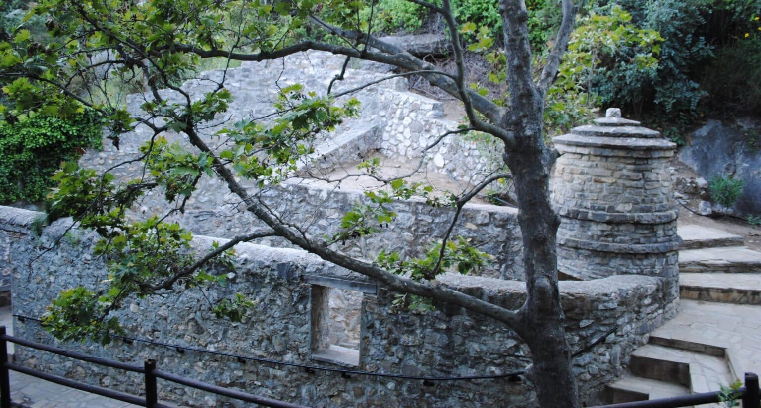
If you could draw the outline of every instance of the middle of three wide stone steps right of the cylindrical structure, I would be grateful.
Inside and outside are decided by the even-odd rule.
[[[680,273],[761,273],[761,252],[747,247],[679,251]]]

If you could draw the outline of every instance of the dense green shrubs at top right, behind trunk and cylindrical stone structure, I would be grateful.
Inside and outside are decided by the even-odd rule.
[[[456,0],[452,5],[460,23],[485,27],[498,45],[497,3]],[[528,0],[526,5],[532,46],[541,53],[558,25],[558,2]],[[549,128],[563,129],[595,108],[617,106],[683,142],[683,129],[703,116],[761,112],[761,0],[592,0],[581,7],[570,45],[575,48],[560,73],[565,78],[556,86],[557,97],[548,100]],[[403,0],[380,0],[377,14],[374,30],[385,32],[426,30],[431,17]],[[652,32],[657,40],[647,38]],[[575,49],[589,53],[581,56]],[[657,63],[643,59],[650,56]]]

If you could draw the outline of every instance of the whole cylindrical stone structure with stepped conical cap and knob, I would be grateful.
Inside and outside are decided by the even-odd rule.
[[[561,154],[552,177],[558,269],[584,280],[661,276],[664,300],[673,301],[680,238],[669,158],[677,145],[615,108],[596,122],[552,139]]]

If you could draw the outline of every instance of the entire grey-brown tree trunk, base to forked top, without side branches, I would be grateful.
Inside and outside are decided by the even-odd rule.
[[[563,1],[563,8],[553,55],[565,51],[575,16],[570,0]],[[510,110],[502,126],[513,129],[515,140],[514,148],[505,147],[504,158],[513,174],[526,269],[527,299],[517,333],[531,350],[527,378],[537,391],[540,406],[575,408],[578,389],[558,284],[556,234],[560,218],[549,199],[549,172],[554,159],[543,140],[544,87],[551,83],[547,77],[555,75],[559,59],[552,59],[540,84],[535,83],[526,5],[523,0],[500,0],[499,11],[510,90]]]

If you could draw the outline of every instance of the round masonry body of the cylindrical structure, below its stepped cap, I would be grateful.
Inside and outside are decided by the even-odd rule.
[[[564,216],[558,231],[561,269],[587,279],[677,273],[677,212],[668,159],[625,157],[632,151],[614,149],[598,148],[596,155],[590,148],[575,150],[556,163],[553,197]]]

